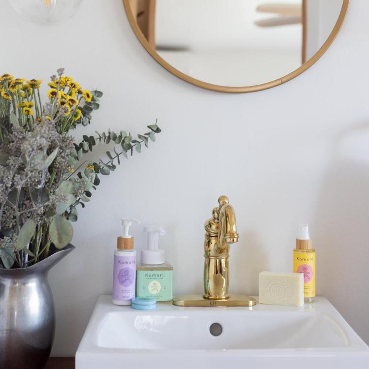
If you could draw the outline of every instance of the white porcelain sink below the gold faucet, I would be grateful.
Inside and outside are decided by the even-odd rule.
[[[76,369],[369,368],[369,347],[323,297],[303,307],[168,303],[151,311],[111,300],[98,299]]]

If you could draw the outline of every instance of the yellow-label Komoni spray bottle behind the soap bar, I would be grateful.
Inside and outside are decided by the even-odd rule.
[[[305,303],[311,303],[315,297],[315,249],[309,236],[308,224],[299,225],[299,237],[293,250],[293,272],[304,273]]]

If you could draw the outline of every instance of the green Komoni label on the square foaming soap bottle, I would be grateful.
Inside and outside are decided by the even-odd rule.
[[[137,270],[137,297],[154,298],[156,301],[173,299],[172,270]]]

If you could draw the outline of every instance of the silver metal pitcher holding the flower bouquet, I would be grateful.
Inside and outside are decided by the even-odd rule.
[[[0,369],[42,369],[54,340],[49,270],[75,247],[23,269],[0,269]]]

